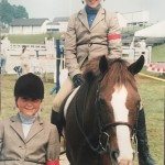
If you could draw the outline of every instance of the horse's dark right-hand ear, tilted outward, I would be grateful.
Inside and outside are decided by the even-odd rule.
[[[130,72],[132,75],[135,75],[135,74],[140,73],[141,69],[143,68],[144,61],[145,61],[145,59],[144,59],[144,56],[141,55],[140,58],[139,58],[136,62],[134,62],[133,64],[131,64],[131,65],[128,67],[129,72]]]

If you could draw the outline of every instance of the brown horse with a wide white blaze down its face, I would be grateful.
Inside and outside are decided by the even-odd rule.
[[[144,56],[133,64],[106,56],[89,61],[85,84],[69,103],[63,102],[66,155],[70,165],[132,165],[140,95],[134,75]],[[66,107],[67,105],[67,107]]]

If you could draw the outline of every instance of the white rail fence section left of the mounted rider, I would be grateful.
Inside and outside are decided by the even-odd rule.
[[[12,44],[9,40],[2,42],[1,57],[6,58],[7,74],[15,74],[14,67],[21,66],[22,47],[26,46],[30,56],[31,72],[55,73],[56,72],[56,45],[54,40],[45,40],[45,44]],[[61,58],[63,62],[64,58]],[[62,64],[62,63],[61,63]],[[61,65],[63,68],[64,65]]]

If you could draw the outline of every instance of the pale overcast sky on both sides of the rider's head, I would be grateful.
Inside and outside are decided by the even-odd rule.
[[[69,16],[84,6],[81,0],[8,0],[11,4],[25,7],[30,18]],[[102,0],[103,1],[103,0]],[[102,2],[109,11],[120,13],[150,11],[151,22],[165,20],[165,0],[106,0]]]

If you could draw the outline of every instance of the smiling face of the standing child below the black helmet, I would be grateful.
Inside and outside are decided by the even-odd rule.
[[[40,99],[32,100],[19,97],[16,100],[16,106],[20,112],[22,112],[25,116],[34,116],[40,110],[41,103],[42,100]]]

